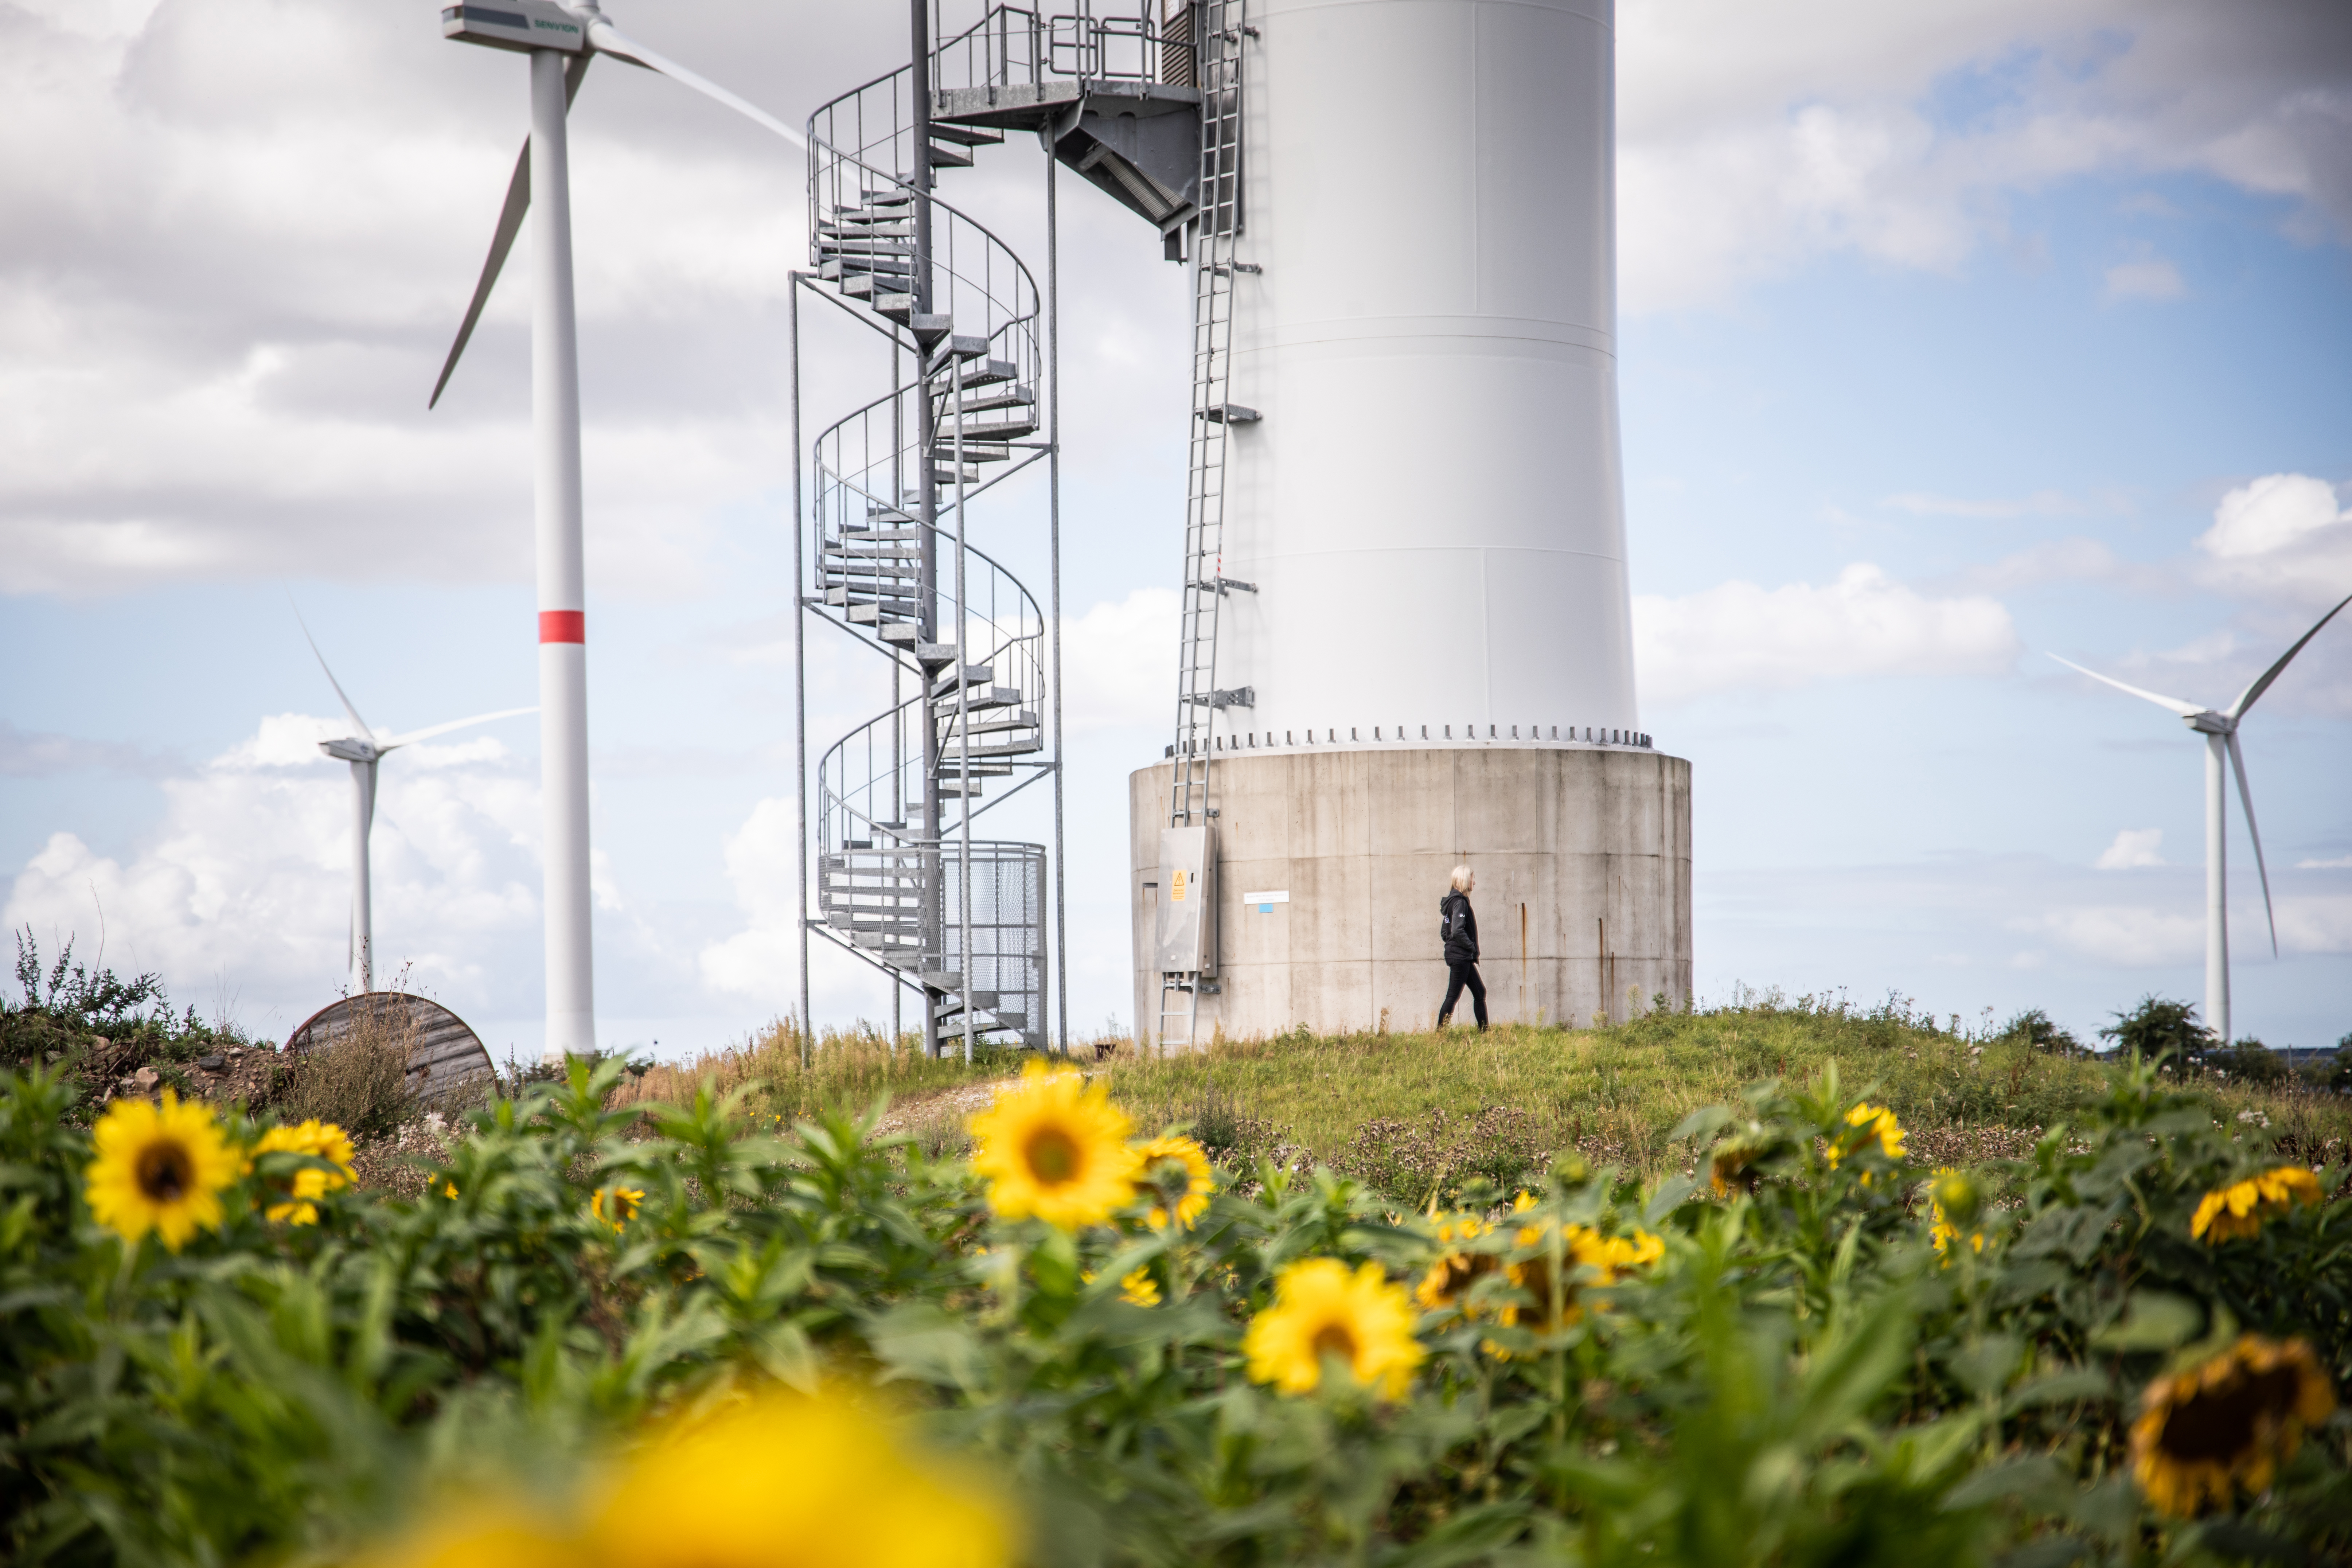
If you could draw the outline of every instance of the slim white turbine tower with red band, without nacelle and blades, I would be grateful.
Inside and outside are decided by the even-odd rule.
[[[595,1048],[588,914],[588,630],[581,564],[581,378],[572,310],[564,56],[532,49],[532,442],[539,557],[539,797],[548,1032],[541,1056]]]

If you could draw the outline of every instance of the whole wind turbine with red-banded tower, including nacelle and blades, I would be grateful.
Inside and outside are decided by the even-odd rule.
[[[442,364],[433,400],[482,315],[499,268],[532,223],[532,437],[539,555],[539,788],[546,813],[546,1056],[595,1046],[595,978],[588,926],[588,630],[581,583],[581,395],[572,313],[572,172],[564,113],[588,61],[612,54],[659,71],[807,148],[807,136],[652,49],[621,35],[595,0],[499,0],[442,9],[442,38],[513,49],[532,59],[532,136],[515,160],[489,261]],[[430,407],[430,404],[428,404]]]

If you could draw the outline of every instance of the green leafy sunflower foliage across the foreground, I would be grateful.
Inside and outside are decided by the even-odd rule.
[[[2249,1185],[2223,1227],[2251,1234],[2197,1239],[2279,1161],[2138,1063],[1969,1180],[1931,1185],[1830,1072],[1691,1117],[1696,1180],[1571,1154],[1517,1204],[1423,1215],[1425,1192],[1261,1161],[1152,1227],[1183,1194],[1167,1164],[1070,1232],[993,1213],[971,1166],[875,1117],[764,1135],[708,1091],[614,1110],[621,1077],[576,1063],[473,1117],[426,1197],[334,1190],[313,1225],[270,1222],[270,1187],[332,1164],[261,1154],[176,1253],[96,1225],[59,1077],[0,1077],[7,1559],[343,1561],[452,1488],[588,1495],[652,1415],[818,1380],[993,1465],[1040,1563],[2352,1552],[2343,1413],[2307,1410],[2288,1458],[2279,1422],[2183,1406],[2244,1460],[2197,1521],[2133,1481],[2169,1375],[2267,1340],[2352,1373],[2352,1206]],[[1294,1359],[1308,1392],[1261,1380],[1254,1326],[1308,1260],[1392,1312],[1395,1396],[1345,1333]],[[2230,1410],[2317,1387],[2284,1375]],[[830,1561],[760,1552],[699,1561]]]

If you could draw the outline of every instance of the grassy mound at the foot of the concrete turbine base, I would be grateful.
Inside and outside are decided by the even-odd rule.
[[[1009,1053],[924,1060],[889,1053],[877,1034],[828,1034],[811,1070],[800,1037],[779,1025],[736,1051],[654,1070],[637,1093],[691,1095],[701,1077],[753,1086],[750,1105],[793,1121],[818,1105],[863,1105],[889,1091],[894,1121],[955,1145],[974,1079],[1018,1067]],[[2105,1093],[2112,1065],[2051,1051],[2030,1030],[1990,1037],[1940,1025],[1900,1004],[1851,1009],[1811,997],[1736,1009],[1653,1013],[1602,1030],[1498,1027],[1489,1034],[1308,1034],[1221,1041],[1192,1056],[1138,1056],[1120,1041],[1098,1070],[1143,1124],[1192,1121],[1230,1154],[1336,1164],[1392,1192],[1442,1171],[1503,1171],[1569,1145],[1646,1175],[1682,1171],[1689,1150],[1668,1133],[1691,1110],[1738,1103],[1762,1079],[1809,1081],[1835,1067],[1910,1128],[1912,1152],[1945,1164],[2016,1157],[2049,1126]],[[2352,1143],[2352,1098],[2305,1079],[2274,1084],[2204,1074],[2216,1117],[2267,1133],[2281,1152],[2319,1161]],[[936,1107],[929,1110],[927,1107]]]

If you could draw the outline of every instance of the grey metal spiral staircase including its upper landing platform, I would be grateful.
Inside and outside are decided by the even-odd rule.
[[[967,1048],[1047,1041],[1047,846],[976,837],[974,823],[1058,766],[1051,623],[971,529],[1004,524],[983,496],[1054,461],[1051,299],[934,181],[1035,129],[1051,150],[1049,235],[1058,165],[1181,259],[1200,216],[1190,40],[1225,2],[995,5],[943,35],[929,0],[908,66],[809,118],[814,275],[800,287],[887,339],[891,364],[891,390],[811,444],[802,611],[887,661],[891,703],[818,762],[809,929],[922,990],[929,1051],[946,1030]],[[797,369],[795,329],[795,397]],[[1058,583],[1058,477],[1049,496]],[[1058,818],[1056,785],[1056,835]]]

